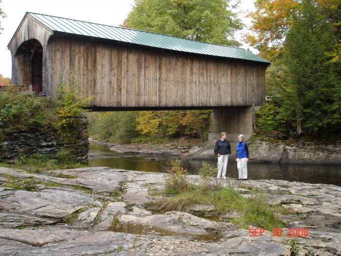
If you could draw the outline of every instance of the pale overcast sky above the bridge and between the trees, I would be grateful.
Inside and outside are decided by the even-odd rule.
[[[133,0],[2,0],[0,8],[7,17],[0,20],[4,29],[0,31],[0,74],[5,78],[12,77],[12,58],[7,45],[26,12],[118,26],[123,23],[132,5]],[[241,10],[253,8],[253,0],[242,0]],[[236,39],[239,39],[238,35]],[[242,47],[251,49],[247,45]]]

